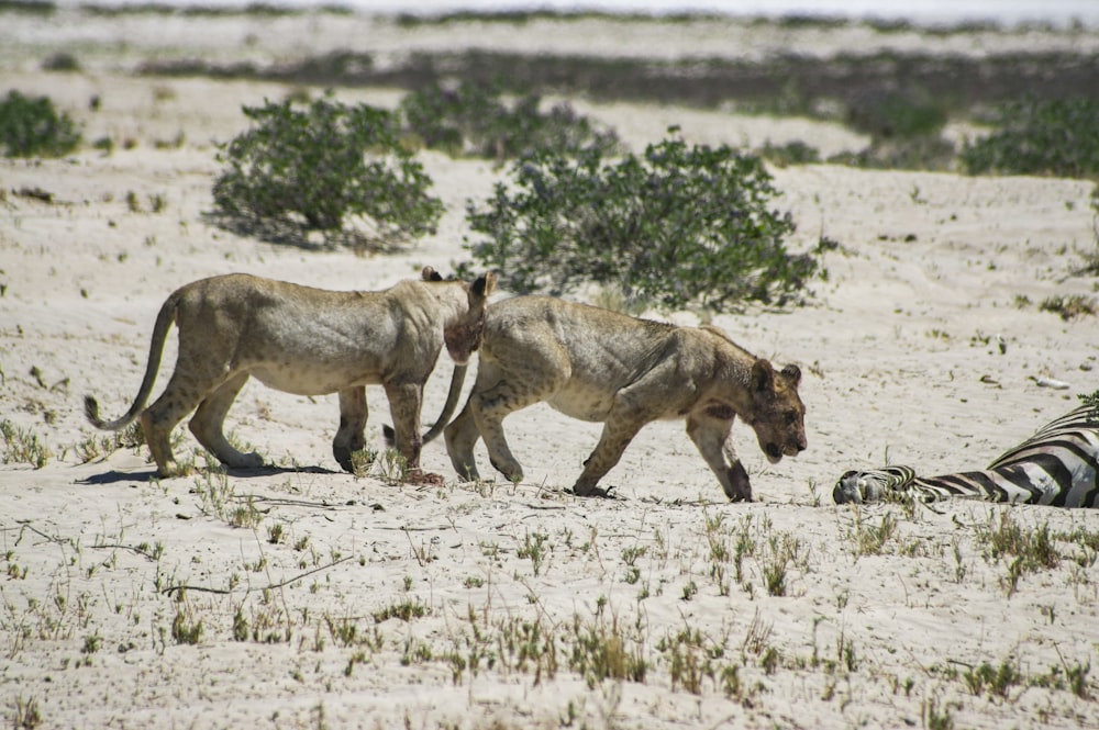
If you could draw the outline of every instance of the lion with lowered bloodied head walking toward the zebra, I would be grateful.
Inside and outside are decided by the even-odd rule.
[[[596,484],[642,426],[685,418],[687,434],[730,499],[751,501],[752,485],[730,437],[740,416],[774,463],[806,448],[801,372],[776,372],[715,327],[676,327],[544,296],[495,303],[485,326],[477,381],[446,427],[446,449],[465,479],[477,480],[474,446],[485,439],[492,465],[510,480],[523,469],[502,420],[545,401],[562,413],[603,424],[602,437],[573,491]]]

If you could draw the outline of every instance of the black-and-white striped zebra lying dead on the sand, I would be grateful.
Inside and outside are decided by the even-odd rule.
[[[1081,405],[1046,424],[984,471],[917,476],[909,467],[848,471],[832,490],[836,504],[900,496],[1099,508],[1099,408]]]

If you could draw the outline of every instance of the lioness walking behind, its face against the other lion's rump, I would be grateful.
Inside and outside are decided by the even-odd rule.
[[[491,273],[469,284],[443,281],[431,267],[423,269],[422,281],[402,281],[380,292],[333,292],[243,273],[201,279],[176,290],[160,307],[145,378],[130,411],[104,422],[89,395],[85,413],[107,430],[133,422],[153,390],[175,322],[176,370],[160,397],[141,413],[162,475],[181,472],[168,437],[196,406],[189,427],[202,446],[231,468],[263,464],[259,454],[241,453],[222,433],[225,414],[248,375],[298,395],[340,393],[332,453],[347,471],[352,452],[365,442],[365,385],[380,383],[389,397],[397,449],[415,470],[423,384],[444,342],[459,366],[477,349],[495,285]]]

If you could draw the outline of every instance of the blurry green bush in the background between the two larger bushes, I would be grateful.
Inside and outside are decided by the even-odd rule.
[[[456,89],[431,85],[401,100],[407,131],[432,149],[449,155],[511,159],[548,148],[575,155],[586,147],[619,150],[618,135],[601,131],[568,103],[541,111],[541,99],[526,96],[511,106],[481,83]]]

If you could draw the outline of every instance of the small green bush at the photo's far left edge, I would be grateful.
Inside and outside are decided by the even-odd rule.
[[[48,97],[32,99],[9,91],[0,102],[0,145],[7,157],[60,157],[80,144],[68,114],[57,113]]]

